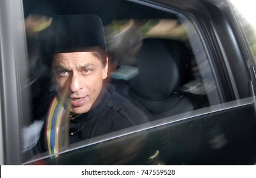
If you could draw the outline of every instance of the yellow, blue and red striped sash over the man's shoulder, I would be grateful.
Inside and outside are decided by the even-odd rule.
[[[54,97],[46,120],[46,142],[50,155],[59,156],[60,151],[68,146],[70,109],[59,97]]]

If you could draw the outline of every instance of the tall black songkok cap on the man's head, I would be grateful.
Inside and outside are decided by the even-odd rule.
[[[103,23],[97,15],[53,16],[39,38],[45,54],[107,50]]]

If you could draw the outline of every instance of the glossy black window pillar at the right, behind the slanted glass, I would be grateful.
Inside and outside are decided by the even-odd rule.
[[[213,57],[210,60],[217,72],[218,81],[222,84],[220,91],[224,102],[251,97],[250,83],[254,83],[255,79],[248,72],[248,55],[245,55],[245,48],[241,48],[245,43],[242,42],[243,37],[241,31],[238,31],[238,24],[235,24],[236,19],[231,13],[229,2],[206,1],[206,7],[211,18],[201,20],[201,24],[205,26],[202,33],[208,33],[211,37],[205,38],[208,43],[206,48]]]

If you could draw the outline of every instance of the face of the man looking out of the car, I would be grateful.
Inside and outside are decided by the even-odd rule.
[[[108,62],[90,52],[58,53],[52,61],[53,83],[60,98],[71,102],[71,112],[87,113],[101,92]]]

